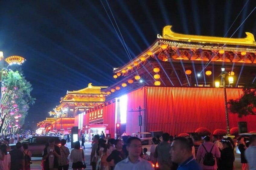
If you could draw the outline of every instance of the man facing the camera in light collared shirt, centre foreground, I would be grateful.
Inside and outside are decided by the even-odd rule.
[[[130,137],[126,142],[126,149],[128,150],[128,157],[117,163],[114,170],[153,170],[150,162],[142,159],[140,154],[142,152],[142,144],[139,138]]]

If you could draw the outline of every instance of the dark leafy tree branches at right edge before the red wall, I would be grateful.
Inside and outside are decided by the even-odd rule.
[[[256,115],[256,86],[246,85],[243,88],[243,95],[238,99],[228,101],[231,113],[238,114],[238,117]]]

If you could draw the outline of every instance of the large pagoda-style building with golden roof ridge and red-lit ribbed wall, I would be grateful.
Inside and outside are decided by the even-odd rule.
[[[223,81],[227,100],[237,99],[242,87],[254,82],[254,36],[249,32],[245,38],[185,35],[171,27],[165,26],[162,36],[157,35],[135,59],[114,69],[117,82],[103,90],[107,94],[104,104],[87,111],[85,125],[107,125],[111,137],[117,123],[128,134],[138,132],[139,112],[135,111],[141,106],[142,132],[178,135],[200,127],[211,132],[226,129]],[[224,79],[219,76],[222,67]],[[215,86],[216,81],[219,85]],[[230,129],[247,122],[248,131],[256,130],[255,116],[228,115]]]

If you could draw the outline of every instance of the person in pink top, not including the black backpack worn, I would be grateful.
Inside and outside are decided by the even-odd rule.
[[[196,156],[197,161],[200,163],[200,166],[202,167],[203,170],[206,170],[206,169],[216,170],[218,168],[216,158],[220,158],[219,148],[210,141],[209,136],[204,137],[203,141],[204,141],[203,144],[201,144],[197,150],[197,156]],[[211,149],[212,149],[211,153],[213,154],[213,156],[215,156],[215,164],[213,166],[207,166],[203,164],[203,158],[204,158],[204,155],[206,154],[206,150],[209,153]]]

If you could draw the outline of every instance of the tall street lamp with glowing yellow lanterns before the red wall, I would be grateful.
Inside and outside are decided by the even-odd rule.
[[[227,104],[227,92],[226,92],[226,83],[225,83],[225,76],[229,75],[229,73],[225,72],[225,68],[221,68],[220,76],[222,77],[223,81],[223,90],[224,90],[224,99],[225,99],[225,111],[226,111],[226,124],[227,124],[227,136],[230,136],[230,129],[229,129],[229,114],[228,114],[228,104]],[[232,84],[234,82],[234,78],[230,75],[229,78],[229,84]],[[215,82],[215,87],[220,87],[220,83],[218,81]]]

